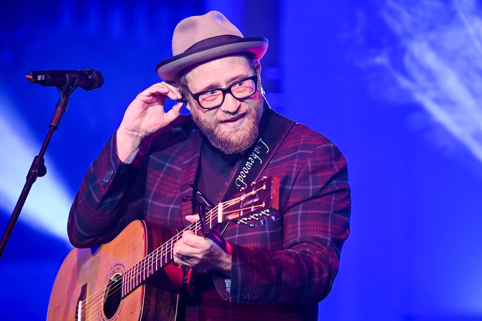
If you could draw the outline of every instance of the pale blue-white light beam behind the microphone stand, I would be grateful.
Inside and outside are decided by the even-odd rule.
[[[12,111],[16,110],[0,83],[0,208],[12,213],[25,185],[33,157],[41,143],[25,122]],[[49,232],[68,242],[67,216],[73,196],[64,179],[46,155],[47,175],[39,178],[27,197],[19,219],[39,230]]]

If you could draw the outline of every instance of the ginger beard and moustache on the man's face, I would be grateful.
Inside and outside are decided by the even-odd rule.
[[[258,137],[259,122],[263,111],[262,95],[255,93],[250,102],[241,102],[236,113],[217,112],[214,121],[208,121],[197,108],[192,108],[194,122],[209,141],[226,154],[236,154],[249,148]],[[242,124],[236,127],[223,125],[228,119],[246,114]]]

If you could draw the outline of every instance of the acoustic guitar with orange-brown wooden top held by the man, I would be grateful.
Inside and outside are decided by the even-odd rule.
[[[278,203],[279,179],[264,179],[184,230],[204,236],[226,221],[265,224],[278,218]],[[55,278],[47,320],[175,320],[183,271],[172,249],[184,230],[134,221],[112,242],[72,249]]]

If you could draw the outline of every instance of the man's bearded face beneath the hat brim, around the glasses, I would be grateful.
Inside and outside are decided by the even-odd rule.
[[[259,64],[256,64],[259,74]],[[244,56],[227,56],[192,68],[186,83],[192,93],[228,86],[254,75],[250,61]],[[259,85],[259,84],[258,84]],[[191,96],[187,93],[187,96]],[[201,108],[193,97],[187,108],[194,121],[211,144],[227,154],[239,153],[250,147],[257,138],[263,110],[261,88],[245,99],[226,94],[223,104],[212,109]]]

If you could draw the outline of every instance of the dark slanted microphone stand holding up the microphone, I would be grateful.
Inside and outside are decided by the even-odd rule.
[[[25,200],[27,199],[28,193],[30,192],[33,183],[35,182],[37,177],[42,177],[47,173],[47,168],[44,165],[45,152],[47,151],[47,147],[49,146],[54,131],[57,130],[57,128],[59,127],[63,114],[67,111],[67,106],[70,101],[70,94],[78,87],[78,77],[76,75],[67,73],[66,76],[67,81],[65,83],[65,86],[63,88],[60,86],[56,87],[60,94],[60,98],[57,102],[57,105],[55,106],[52,120],[50,121],[50,129],[47,133],[44,144],[40,149],[40,153],[33,158],[32,166],[30,166],[30,169],[28,170],[27,180],[25,182],[25,185],[23,186],[23,190],[20,194],[20,197],[18,198],[17,205],[13,210],[12,216],[10,217],[7,228],[5,229],[5,233],[2,236],[2,241],[0,243],[0,258],[2,258],[5,247],[7,246],[10,235],[12,234],[15,223],[17,222],[20,212],[22,211],[23,205],[25,204]]]

